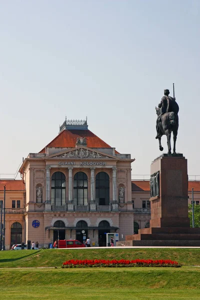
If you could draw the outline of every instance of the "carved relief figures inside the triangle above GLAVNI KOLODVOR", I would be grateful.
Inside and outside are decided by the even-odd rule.
[[[54,157],[55,158],[109,158],[108,156],[102,155],[96,151],[90,151],[84,148],[75,149],[73,151],[69,151]]]

